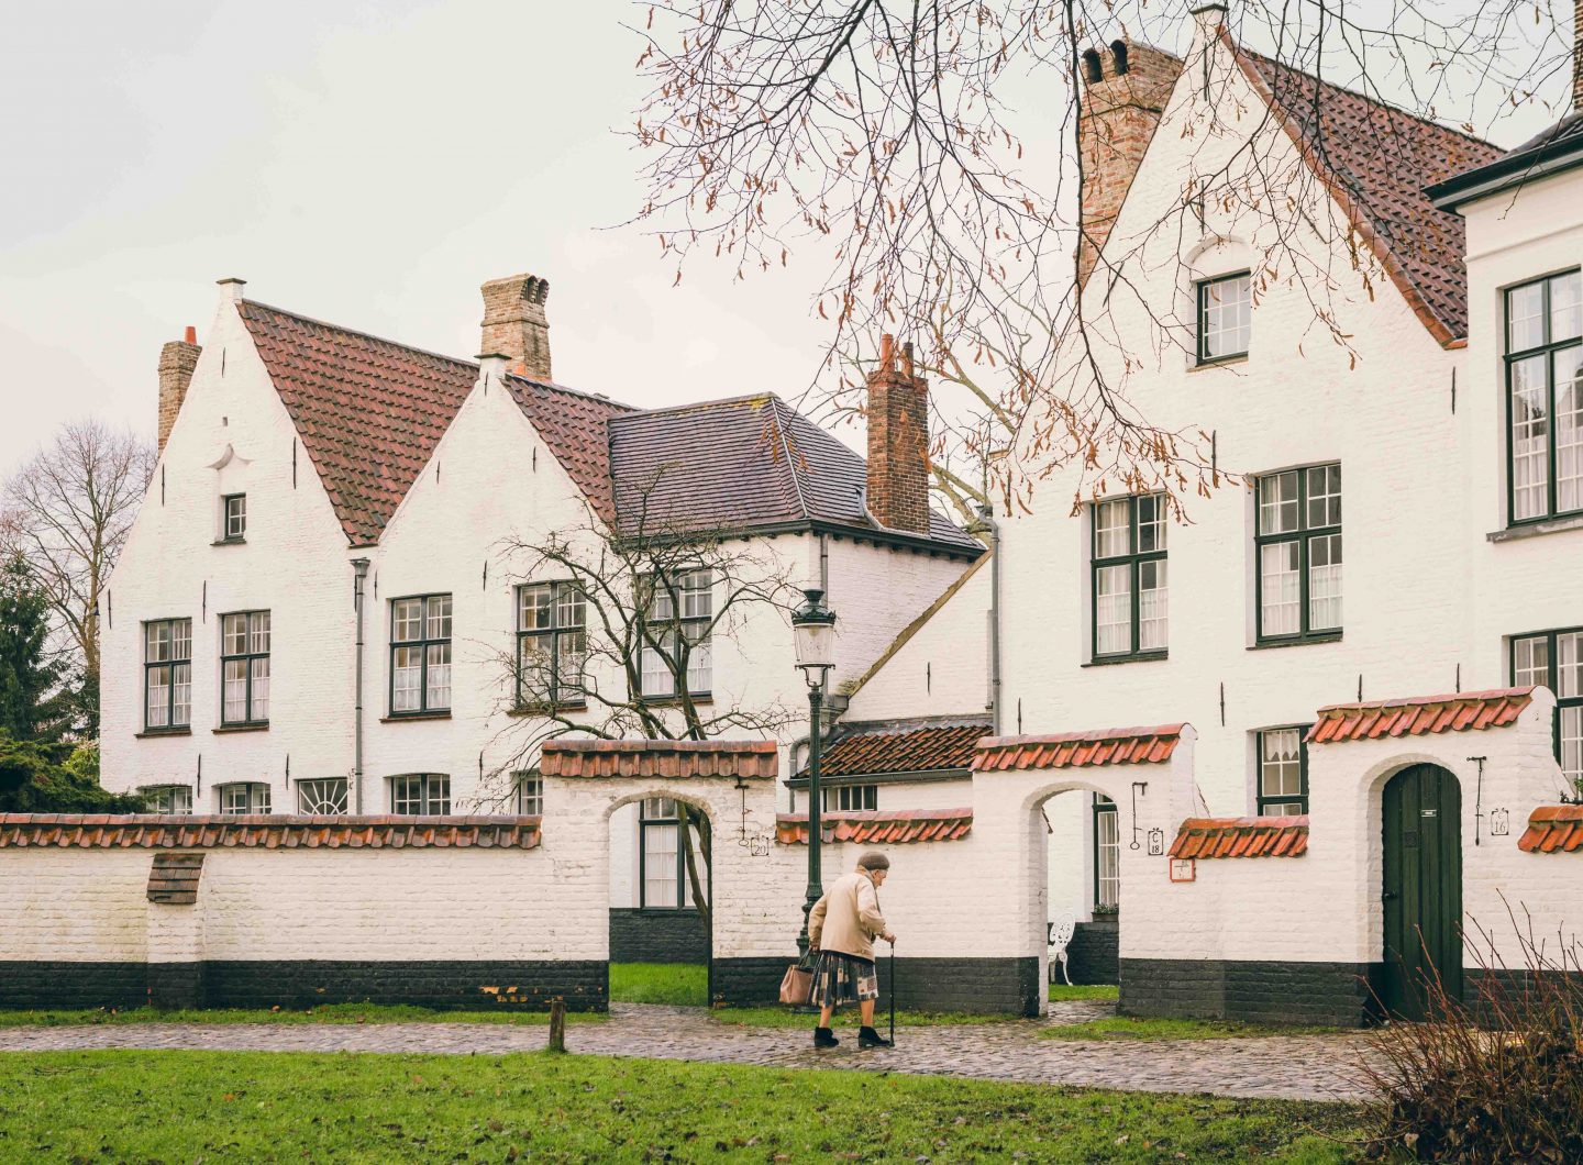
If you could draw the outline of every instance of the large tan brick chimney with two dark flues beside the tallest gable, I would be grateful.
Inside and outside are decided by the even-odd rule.
[[[1078,283],[1086,283],[1143,163],[1183,62],[1132,41],[1083,54],[1078,150],[1083,158],[1083,237]]]

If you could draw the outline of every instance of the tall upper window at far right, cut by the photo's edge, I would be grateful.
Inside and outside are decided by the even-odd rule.
[[[1583,511],[1583,274],[1505,293],[1513,522]]]

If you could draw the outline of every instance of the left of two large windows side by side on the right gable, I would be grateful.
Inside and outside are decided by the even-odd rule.
[[[1165,651],[1165,495],[1094,505],[1094,658]]]

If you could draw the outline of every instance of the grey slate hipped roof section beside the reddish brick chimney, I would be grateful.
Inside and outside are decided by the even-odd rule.
[[[879,530],[863,513],[863,457],[771,393],[613,416],[609,457],[628,533],[804,522]],[[928,538],[915,537],[983,552],[932,510]]]

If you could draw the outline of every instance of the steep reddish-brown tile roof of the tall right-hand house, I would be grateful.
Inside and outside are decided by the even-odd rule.
[[[1315,174],[1349,209],[1429,332],[1467,336],[1463,220],[1425,187],[1501,155],[1501,147],[1236,49]]]

